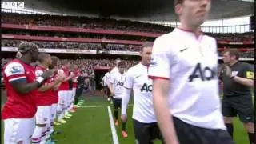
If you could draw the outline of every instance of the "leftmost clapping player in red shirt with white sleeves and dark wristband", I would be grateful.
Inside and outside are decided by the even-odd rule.
[[[37,111],[35,97],[38,87],[52,71],[45,71],[36,78],[30,63],[38,59],[38,46],[32,42],[22,42],[18,46],[20,57],[7,63],[3,78],[7,91],[7,102],[3,106],[4,143],[30,143],[34,130],[34,115]]]

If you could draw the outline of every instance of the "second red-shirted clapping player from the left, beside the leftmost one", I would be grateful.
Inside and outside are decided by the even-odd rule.
[[[41,74],[46,71],[49,66],[52,65],[50,54],[39,54],[38,56],[38,66],[35,67],[35,74],[40,77]],[[36,104],[38,110],[36,113],[36,127],[34,129],[34,134],[32,135],[32,143],[46,143],[46,135],[50,133],[50,115],[51,115],[51,105],[54,86],[61,83],[64,76],[59,77],[54,81],[54,77],[47,78],[38,89],[38,97],[36,98]]]

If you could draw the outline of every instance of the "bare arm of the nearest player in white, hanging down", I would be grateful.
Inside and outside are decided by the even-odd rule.
[[[169,108],[167,106],[167,96],[170,90],[169,86],[169,80],[160,78],[153,80],[153,104],[158,119],[158,125],[166,144],[178,144],[174,122],[170,117]]]

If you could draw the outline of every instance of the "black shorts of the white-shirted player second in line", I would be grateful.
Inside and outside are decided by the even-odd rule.
[[[153,144],[154,139],[160,139],[164,143],[157,122],[142,123],[134,119],[134,134],[136,144]]]

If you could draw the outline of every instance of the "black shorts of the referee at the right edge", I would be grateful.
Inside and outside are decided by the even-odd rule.
[[[224,117],[236,117],[242,122],[254,122],[254,106],[250,96],[225,97],[222,99]]]

